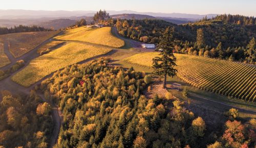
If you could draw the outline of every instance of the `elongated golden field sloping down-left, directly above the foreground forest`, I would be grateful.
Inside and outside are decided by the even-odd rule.
[[[68,43],[56,50],[32,60],[27,67],[11,79],[23,86],[30,86],[40,79],[68,65],[106,54],[109,47],[96,47],[82,43]]]

